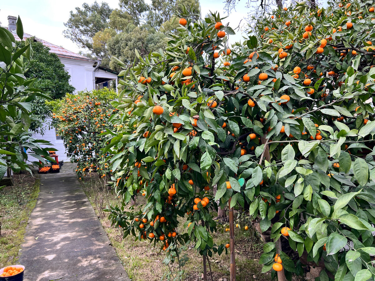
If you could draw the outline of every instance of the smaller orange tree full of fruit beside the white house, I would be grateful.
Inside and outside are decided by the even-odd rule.
[[[101,148],[106,145],[103,133],[114,129],[110,120],[117,109],[110,102],[116,96],[114,91],[102,89],[67,94],[50,102],[52,124],[64,142],[68,157],[77,163],[76,172],[80,176],[98,171],[103,177],[109,171]]]

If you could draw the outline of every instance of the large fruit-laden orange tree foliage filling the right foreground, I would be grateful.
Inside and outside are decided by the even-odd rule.
[[[189,242],[211,256],[223,245],[209,211],[247,201],[273,239],[263,272],[291,279],[308,264],[324,267],[320,280],[374,276],[371,3],[276,10],[231,51],[219,16],[180,16],[165,52],[136,53],[141,62],[121,73],[114,122],[124,127],[106,149],[116,192],[129,202],[144,190],[147,204],[111,207],[113,224],[161,242],[165,262]]]

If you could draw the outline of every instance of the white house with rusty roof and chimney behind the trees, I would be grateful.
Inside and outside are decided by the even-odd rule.
[[[11,31],[16,40],[20,38],[16,34],[16,22],[17,17],[8,16],[8,30]],[[24,33],[24,38],[34,37],[30,34]],[[65,65],[65,71],[67,71],[70,76],[70,84],[75,88],[75,91],[82,90],[93,90],[96,88],[102,88],[108,85],[108,81],[115,81],[116,91],[117,91],[117,72],[114,70],[102,67],[101,61],[92,60],[90,58],[84,57],[83,55],[76,54],[74,52],[68,51],[67,49],[49,43],[43,39],[34,37],[35,40],[41,42],[44,46],[50,49],[51,53],[55,53]],[[45,124],[44,135],[35,134],[34,137],[37,139],[45,139],[52,143],[52,145],[58,149],[56,153],[58,154],[58,160],[69,160],[63,141],[56,136],[54,128],[50,128],[51,123]],[[35,158],[30,157],[30,161],[36,161]]]

